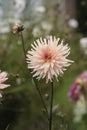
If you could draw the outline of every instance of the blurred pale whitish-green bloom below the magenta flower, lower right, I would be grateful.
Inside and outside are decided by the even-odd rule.
[[[80,100],[77,101],[77,104],[74,109],[74,122],[80,122],[84,114],[87,113],[86,101],[81,96]]]

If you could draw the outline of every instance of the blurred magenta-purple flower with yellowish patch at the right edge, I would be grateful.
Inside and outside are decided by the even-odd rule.
[[[87,87],[87,71],[84,71],[81,73],[74,83],[71,85],[68,96],[71,100],[77,101],[79,100],[81,95],[84,95],[82,92],[82,89],[85,89]],[[86,90],[85,90],[86,91]]]

